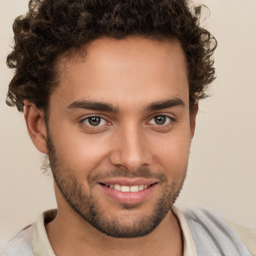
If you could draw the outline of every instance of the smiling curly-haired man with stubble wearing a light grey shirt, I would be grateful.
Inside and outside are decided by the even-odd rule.
[[[216,42],[181,0],[30,1],[7,104],[48,154],[57,210],[3,255],[254,255],[253,231],[173,206]]]

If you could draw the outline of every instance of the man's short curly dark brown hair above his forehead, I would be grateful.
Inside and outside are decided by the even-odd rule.
[[[187,60],[189,106],[207,96],[214,76],[216,40],[200,27],[200,9],[188,0],[30,0],[13,23],[14,46],[7,56],[15,68],[6,103],[23,111],[24,100],[47,110],[57,86],[57,59],[103,36],[176,38]]]

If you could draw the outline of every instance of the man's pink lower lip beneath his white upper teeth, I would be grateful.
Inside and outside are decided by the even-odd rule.
[[[102,190],[114,200],[121,202],[121,203],[139,203],[148,198],[156,187],[156,183],[150,185],[149,187],[137,191],[137,192],[122,192],[116,189],[107,187],[105,185],[99,184]]]

